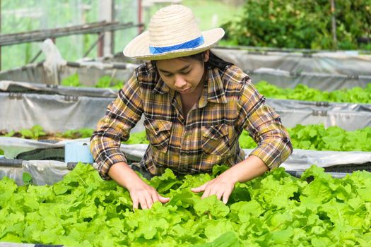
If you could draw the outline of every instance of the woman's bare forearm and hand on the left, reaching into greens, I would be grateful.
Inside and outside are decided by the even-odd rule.
[[[164,198],[155,190],[155,188],[145,183],[125,162],[113,164],[108,171],[114,181],[120,186],[127,188],[133,201],[133,210],[151,208],[153,203],[160,201],[167,203],[170,198]]]

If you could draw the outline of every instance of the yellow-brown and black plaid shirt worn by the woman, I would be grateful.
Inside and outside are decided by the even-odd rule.
[[[278,167],[292,152],[280,117],[237,66],[224,71],[207,68],[204,90],[185,121],[180,95],[147,62],[119,90],[91,138],[103,179],[110,179],[107,172],[112,164],[126,162],[120,143],[129,139],[142,114],[150,145],[140,165],[151,174],[161,174],[167,167],[178,174],[194,174],[209,172],[215,164],[237,164],[245,159],[238,143],[243,129],[258,144],[250,155],[259,157],[269,169]]]

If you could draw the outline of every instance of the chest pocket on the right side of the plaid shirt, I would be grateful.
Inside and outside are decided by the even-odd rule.
[[[228,126],[202,126],[202,151],[208,155],[225,155],[229,151]]]

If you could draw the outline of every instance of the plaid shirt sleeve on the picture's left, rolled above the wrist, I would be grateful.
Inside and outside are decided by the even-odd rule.
[[[127,162],[120,145],[122,140],[129,139],[130,130],[141,119],[142,112],[141,94],[136,76],[133,76],[107,107],[105,116],[98,121],[90,138],[90,151],[102,179],[110,180],[108,171],[113,164]]]

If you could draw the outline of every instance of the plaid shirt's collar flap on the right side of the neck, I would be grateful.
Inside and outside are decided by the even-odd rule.
[[[205,107],[207,102],[216,102],[219,104],[227,104],[227,98],[223,88],[223,82],[220,78],[218,68],[207,69],[207,91],[204,90],[204,95],[199,100],[199,108]]]

